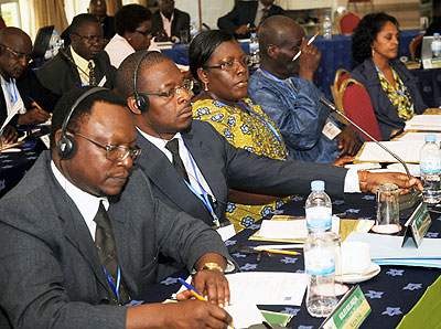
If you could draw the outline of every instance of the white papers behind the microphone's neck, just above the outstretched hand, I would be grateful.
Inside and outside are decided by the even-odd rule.
[[[405,162],[419,163],[420,149],[424,145],[424,141],[381,141],[381,145],[400,157]],[[365,142],[362,153],[357,156],[357,160],[362,162],[398,162],[392,156],[374,141]]]

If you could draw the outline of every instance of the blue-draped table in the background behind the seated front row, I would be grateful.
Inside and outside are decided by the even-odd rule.
[[[398,57],[407,56],[410,60],[409,43],[413,38],[420,35],[422,30],[402,30],[399,34]],[[246,54],[249,54],[249,42],[239,42]],[[314,41],[315,46],[322,53],[322,60],[314,75],[315,85],[332,99],[330,86],[334,83],[335,72],[338,68],[352,71],[353,60],[351,51],[351,35],[333,34],[331,40],[319,35]],[[187,65],[189,44],[174,44],[172,49],[161,50],[175,63]]]

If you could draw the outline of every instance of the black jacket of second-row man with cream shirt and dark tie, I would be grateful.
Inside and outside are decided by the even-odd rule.
[[[82,85],[78,70],[66,56],[72,59],[71,47],[58,52],[55,57],[44,63],[36,72],[36,76],[43,86],[60,95]],[[106,76],[107,81],[104,86],[109,89],[115,88],[116,74],[117,70],[111,66],[109,55],[101,51],[98,59],[95,60],[97,84]]]

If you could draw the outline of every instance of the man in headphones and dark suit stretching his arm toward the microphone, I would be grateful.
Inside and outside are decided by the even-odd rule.
[[[146,57],[139,65],[136,97],[133,75],[141,56]],[[311,191],[310,182],[322,179],[326,182],[326,192],[333,195],[348,192],[347,180],[354,180],[354,191],[358,189],[362,173],[356,171],[349,174],[347,169],[331,164],[259,157],[235,148],[209,124],[192,123],[190,87],[176,65],[157,52],[131,54],[117,73],[117,89],[128,99],[133,113],[137,142],[146,149],[137,166],[151,180],[153,193],[169,205],[214,225],[216,220],[226,221],[228,188],[280,198],[306,194]],[[150,106],[137,102],[140,96],[148,97]],[[178,140],[181,163],[175,161],[169,146],[173,139]],[[183,179],[182,171],[187,178]],[[377,183],[384,181],[402,188],[418,183],[422,188],[418,180],[409,181],[406,174],[367,174],[369,191],[375,192]]]

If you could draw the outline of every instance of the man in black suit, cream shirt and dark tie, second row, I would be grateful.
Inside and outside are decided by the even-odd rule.
[[[43,64],[36,75],[41,83],[57,94],[76,86],[115,87],[116,68],[103,50],[103,28],[92,14],[82,13],[69,26],[71,45]]]

